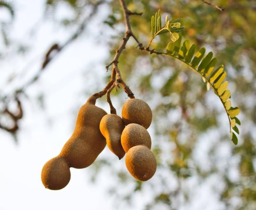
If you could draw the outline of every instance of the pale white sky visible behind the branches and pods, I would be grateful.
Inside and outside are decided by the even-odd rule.
[[[7,59],[0,61],[1,95],[11,93],[15,87],[20,87],[35,75],[40,69],[44,53],[51,44],[56,41],[64,42],[74,30],[63,29],[51,21],[42,21],[44,2],[14,1],[16,18],[10,37],[14,43],[27,44],[31,51],[25,56],[13,57],[15,45],[6,50],[9,52]],[[106,11],[107,7],[101,8],[100,18],[106,17]],[[57,14],[57,18],[72,15],[65,6]],[[4,11],[0,11],[0,20],[6,15]],[[19,123],[18,143],[14,142],[10,134],[0,130],[0,210],[113,209],[115,196],[107,193],[110,184],[115,183],[115,177],[111,177],[111,172],[101,173],[97,182],[92,183],[90,167],[71,168],[69,184],[58,191],[48,190],[41,183],[42,166],[47,160],[59,154],[62,146],[72,135],[79,107],[90,95],[105,86],[104,79],[108,75],[105,71],[108,46],[104,42],[95,41],[94,36],[99,33],[97,29],[93,29],[95,24],[97,20],[93,20],[80,38],[59,53],[38,81],[27,88],[28,98],[22,98],[24,117]],[[32,33],[30,29],[35,26],[38,27],[38,31]],[[3,43],[1,45],[3,47]],[[13,79],[6,84],[9,78]],[[38,95],[44,97],[44,103],[38,103]],[[117,107],[125,101],[126,96],[123,93],[119,97],[121,99],[113,99],[113,102],[118,104]],[[109,112],[106,103],[97,102],[96,105]],[[120,115],[120,108],[117,111]],[[149,132],[153,135],[152,130],[149,129]],[[207,149],[207,145],[201,144],[201,149]],[[108,155],[108,148],[100,154],[101,157]],[[124,159],[119,162],[116,159],[113,164],[122,167],[121,165],[125,165]],[[172,177],[166,178],[172,182]],[[152,182],[157,181],[155,179],[153,177]],[[184,206],[182,209],[224,209],[223,205],[217,203],[218,196],[211,188],[212,182],[216,181],[218,177],[209,177],[197,188],[190,206]],[[193,188],[195,183],[197,182],[192,180],[190,187]],[[127,186],[127,189],[123,190],[129,190],[130,187]],[[152,193],[144,189],[141,194],[136,195],[133,209],[142,209],[151,198]],[[119,203],[119,209],[130,209],[125,202]]]

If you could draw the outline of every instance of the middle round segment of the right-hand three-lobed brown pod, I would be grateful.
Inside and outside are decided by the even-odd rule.
[[[127,125],[121,135],[121,144],[127,153],[133,146],[144,145],[151,149],[151,137],[145,127],[131,123]]]

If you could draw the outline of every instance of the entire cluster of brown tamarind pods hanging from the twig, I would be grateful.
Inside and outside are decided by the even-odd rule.
[[[119,159],[127,153],[125,164],[134,178],[150,179],[156,171],[156,160],[150,151],[151,138],[146,130],[151,121],[151,109],[140,99],[129,99],[124,103],[122,118],[86,102],[79,109],[72,136],[60,154],[42,168],[42,183],[51,190],[67,186],[69,168],[88,167],[106,144]]]

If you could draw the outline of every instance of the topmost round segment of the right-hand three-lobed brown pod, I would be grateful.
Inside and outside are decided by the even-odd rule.
[[[125,125],[137,123],[147,129],[152,121],[152,111],[146,102],[132,98],[123,104],[122,118]]]

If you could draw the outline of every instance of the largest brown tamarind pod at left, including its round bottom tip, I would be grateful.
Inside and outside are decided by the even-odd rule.
[[[106,146],[106,140],[99,129],[100,120],[106,114],[90,102],[80,108],[72,136],[60,154],[46,162],[42,168],[41,179],[46,188],[60,190],[70,180],[70,167],[85,168],[94,162]]]

